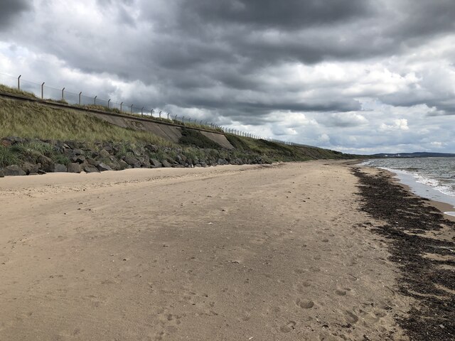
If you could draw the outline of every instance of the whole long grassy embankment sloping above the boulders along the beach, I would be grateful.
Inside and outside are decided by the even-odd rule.
[[[59,153],[52,144],[42,140],[80,141],[93,150],[100,149],[100,144],[109,142],[119,146],[120,153],[134,153],[134,148],[143,148],[146,144],[159,146],[154,155],[160,160],[173,159],[181,154],[188,159],[242,160],[248,162],[260,158],[262,161],[306,161],[314,158],[347,158],[346,154],[328,151],[322,148],[285,146],[274,142],[255,140],[226,134],[235,150],[228,151],[199,131],[183,128],[179,144],[162,139],[147,131],[125,129],[109,124],[102,119],[72,109],[55,109],[36,102],[21,102],[0,98],[0,139],[6,136],[18,136],[24,141],[14,146],[0,145],[0,167],[33,162],[39,153],[52,158],[55,163],[68,164],[69,159]],[[38,141],[41,140],[41,141]],[[121,155],[118,155],[121,157]]]

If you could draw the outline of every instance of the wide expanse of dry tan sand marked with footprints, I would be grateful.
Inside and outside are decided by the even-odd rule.
[[[407,340],[339,162],[0,179],[0,340]]]

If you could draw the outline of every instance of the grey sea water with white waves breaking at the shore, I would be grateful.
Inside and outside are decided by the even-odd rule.
[[[362,165],[391,171],[414,194],[446,202],[455,211],[455,158],[376,158]]]

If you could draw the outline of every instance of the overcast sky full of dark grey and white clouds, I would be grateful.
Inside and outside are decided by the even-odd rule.
[[[454,0],[1,0],[0,72],[339,151],[455,153]]]

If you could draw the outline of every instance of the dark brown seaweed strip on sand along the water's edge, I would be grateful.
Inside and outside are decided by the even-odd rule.
[[[360,180],[361,210],[385,222],[373,231],[385,237],[390,260],[400,267],[398,292],[417,300],[397,322],[411,340],[455,340],[455,242],[436,236],[454,231],[455,223],[384,172],[352,172]]]

